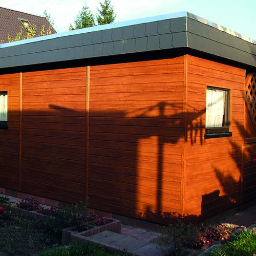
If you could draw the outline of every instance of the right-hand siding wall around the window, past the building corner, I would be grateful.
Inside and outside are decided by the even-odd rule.
[[[184,214],[206,218],[241,200],[245,71],[188,56],[187,74]],[[204,138],[207,86],[230,90],[232,137]]]

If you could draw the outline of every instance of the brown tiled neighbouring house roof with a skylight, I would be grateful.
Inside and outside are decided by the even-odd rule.
[[[25,35],[29,28],[34,25],[37,33],[40,34],[42,26],[45,25],[45,30],[47,30],[50,23],[44,17],[0,7],[0,42],[8,42],[8,35],[13,38],[20,29]],[[56,31],[53,29],[52,33],[56,33]]]

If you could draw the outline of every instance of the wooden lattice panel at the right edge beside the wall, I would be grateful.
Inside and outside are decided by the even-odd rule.
[[[251,118],[254,120],[254,123],[256,124],[256,74],[250,74],[250,79],[247,80],[246,88],[245,88],[245,95],[247,99],[247,106],[250,110]]]

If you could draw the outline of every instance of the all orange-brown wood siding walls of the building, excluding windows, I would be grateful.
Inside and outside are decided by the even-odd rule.
[[[244,82],[190,55],[1,75],[0,187],[158,223],[252,200]],[[232,137],[204,138],[207,86],[230,89]]]

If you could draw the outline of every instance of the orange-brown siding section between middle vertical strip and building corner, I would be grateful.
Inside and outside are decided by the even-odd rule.
[[[156,221],[181,212],[184,56],[91,67],[92,207]]]

